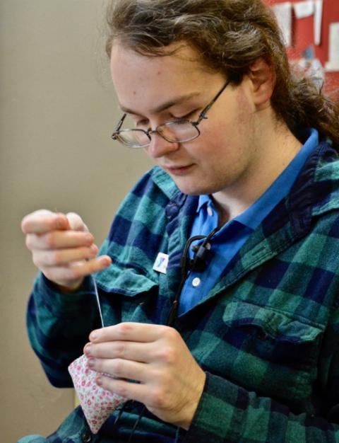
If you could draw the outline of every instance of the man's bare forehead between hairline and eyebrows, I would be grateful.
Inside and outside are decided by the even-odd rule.
[[[118,43],[113,45],[112,80],[121,105],[135,108],[134,103],[143,100],[148,106],[171,95],[201,91],[213,76],[221,75],[209,71],[188,45],[171,45],[168,49],[177,51],[165,56],[146,56]]]

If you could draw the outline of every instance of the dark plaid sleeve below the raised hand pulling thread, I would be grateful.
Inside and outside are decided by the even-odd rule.
[[[61,294],[42,273],[28,303],[28,337],[51,384],[71,387],[69,364],[83,354],[90,331],[100,327],[92,277],[76,292]]]

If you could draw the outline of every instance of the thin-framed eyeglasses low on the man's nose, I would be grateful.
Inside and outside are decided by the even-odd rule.
[[[227,81],[224,86],[220,89],[218,94],[213,98],[213,100],[208,103],[208,105],[203,108],[201,113],[199,114],[198,120],[192,122],[191,120],[186,119],[178,119],[172,120],[170,122],[162,123],[152,130],[149,128],[148,130],[141,129],[123,129],[121,130],[121,126],[124,123],[126,118],[126,113],[121,117],[117,127],[115,127],[114,132],[112,134],[112,139],[117,140],[121,144],[125,146],[129,146],[129,148],[145,148],[149,146],[151,141],[151,134],[159,134],[163,139],[167,140],[167,142],[171,143],[181,143],[181,142],[190,142],[191,140],[199,137],[200,130],[198,125],[200,125],[201,121],[207,119],[206,113],[210,110],[211,106],[218,97],[221,95],[225,88],[230,84],[230,81]]]

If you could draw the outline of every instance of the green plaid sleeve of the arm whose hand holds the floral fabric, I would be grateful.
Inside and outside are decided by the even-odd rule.
[[[257,396],[225,378],[207,373],[201,401],[184,443],[339,442],[339,312],[322,345],[314,393],[322,413],[293,413],[283,403]],[[307,404],[307,401],[306,403]],[[305,409],[311,409],[310,406]]]

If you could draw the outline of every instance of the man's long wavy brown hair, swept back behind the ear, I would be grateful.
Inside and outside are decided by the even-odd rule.
[[[294,134],[299,127],[316,128],[338,149],[338,100],[292,71],[278,23],[262,0],[112,0],[107,23],[108,55],[114,40],[148,56],[167,55],[169,45],[186,42],[233,84],[262,57],[275,72],[271,104],[277,117]]]

